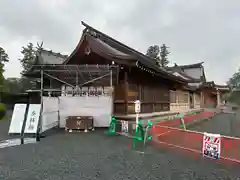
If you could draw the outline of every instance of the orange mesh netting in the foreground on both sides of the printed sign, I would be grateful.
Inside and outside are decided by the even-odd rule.
[[[204,133],[180,128],[155,125],[152,128],[153,144],[202,154]],[[220,159],[240,163],[240,138],[221,136]]]

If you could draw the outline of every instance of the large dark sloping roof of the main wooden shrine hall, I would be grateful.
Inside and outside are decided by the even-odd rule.
[[[102,53],[104,55],[108,55],[108,57],[125,59],[125,60],[134,60],[138,62],[139,66],[143,66],[148,69],[149,72],[154,72],[159,76],[162,76],[167,79],[171,79],[173,81],[186,83],[186,80],[177,76],[174,76],[172,73],[169,73],[162,67],[159,67],[156,64],[155,59],[152,59],[137,50],[128,47],[127,45],[113,39],[112,37],[98,31],[97,29],[89,26],[88,24],[82,22],[82,24],[86,27],[82,38],[77,45],[77,48],[80,48],[80,44],[83,42],[83,39],[88,41],[88,46],[93,49],[93,51],[97,51],[97,53]],[[74,53],[78,51],[75,49],[73,53],[69,56],[69,58],[64,62],[65,64],[69,62],[71,57],[74,56]]]

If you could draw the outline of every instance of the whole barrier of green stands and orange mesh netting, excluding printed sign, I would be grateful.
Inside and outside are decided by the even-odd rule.
[[[153,145],[160,148],[173,148],[181,152],[193,152],[193,154],[204,155],[205,133],[187,130],[189,127],[203,120],[209,120],[221,111],[205,110],[194,113],[188,113],[185,116],[169,116],[168,120],[157,122],[139,121],[137,124],[133,121],[116,120],[112,116],[110,127],[107,134],[123,135],[133,139],[132,147],[136,148],[137,143],[145,145],[151,141]],[[171,119],[171,120],[170,120]],[[184,121],[183,121],[184,119]],[[182,126],[186,125],[185,128]],[[227,162],[240,163],[240,138],[220,135],[220,154],[221,160]],[[211,147],[212,148],[212,147]],[[211,152],[211,151],[210,151]],[[206,151],[205,151],[206,153]],[[190,153],[188,153],[189,155]]]

